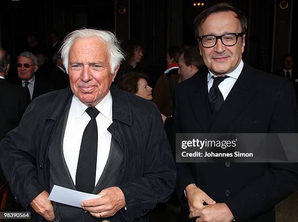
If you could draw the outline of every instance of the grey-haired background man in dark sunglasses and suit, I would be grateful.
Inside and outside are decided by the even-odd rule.
[[[50,78],[47,80],[41,77],[42,75],[34,75],[38,69],[37,57],[31,52],[22,52],[19,54],[17,69],[19,76],[19,81],[17,83],[22,87],[25,87],[31,100],[37,96],[55,90]]]

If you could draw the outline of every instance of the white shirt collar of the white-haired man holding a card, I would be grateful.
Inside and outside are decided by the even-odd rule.
[[[85,110],[88,108],[83,102],[81,102],[75,95],[73,96],[73,102],[75,102],[75,118],[81,117]],[[100,101],[95,108],[102,114],[106,119],[109,119],[110,111],[112,108],[112,96],[109,90],[109,93],[105,98]]]

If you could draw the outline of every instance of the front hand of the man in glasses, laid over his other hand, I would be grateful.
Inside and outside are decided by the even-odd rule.
[[[231,222],[234,216],[225,203],[205,205],[198,210],[192,211],[189,218],[199,217],[196,222]]]

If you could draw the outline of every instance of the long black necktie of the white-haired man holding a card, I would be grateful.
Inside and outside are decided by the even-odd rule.
[[[82,137],[80,154],[75,174],[76,190],[92,193],[95,186],[97,161],[97,123],[96,116],[99,111],[95,107],[88,107],[86,113],[91,117]]]

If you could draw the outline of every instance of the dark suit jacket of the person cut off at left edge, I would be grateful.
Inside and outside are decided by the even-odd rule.
[[[29,104],[27,91],[22,87],[0,79],[0,141],[19,121]],[[0,186],[5,178],[0,171]]]

